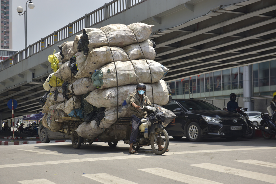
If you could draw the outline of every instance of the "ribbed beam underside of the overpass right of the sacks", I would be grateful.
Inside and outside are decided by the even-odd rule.
[[[218,7],[205,15],[208,19],[198,18],[194,24],[191,20],[153,34],[155,60],[170,69],[164,80],[275,59],[276,1],[247,3]]]

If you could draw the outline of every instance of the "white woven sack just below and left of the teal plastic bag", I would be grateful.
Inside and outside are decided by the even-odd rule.
[[[72,93],[72,84],[69,85],[69,92]],[[75,95],[84,95],[88,91],[94,91],[96,87],[93,86],[92,80],[90,77],[83,77],[77,79],[73,83],[73,91]]]

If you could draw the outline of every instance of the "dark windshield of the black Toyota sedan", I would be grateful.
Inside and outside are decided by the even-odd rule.
[[[180,101],[181,105],[187,110],[220,110],[216,106],[209,104],[206,101],[200,100],[185,100]]]

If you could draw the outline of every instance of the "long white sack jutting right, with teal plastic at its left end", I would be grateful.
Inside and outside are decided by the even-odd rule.
[[[148,64],[147,64],[148,63]],[[118,86],[129,84],[151,83],[150,70],[152,74],[152,83],[161,80],[167,73],[168,69],[153,60],[133,60],[132,62],[115,62],[117,69]],[[99,68],[102,70],[104,83],[99,89],[116,87],[116,70],[114,62]],[[97,81],[96,81],[97,82]]]

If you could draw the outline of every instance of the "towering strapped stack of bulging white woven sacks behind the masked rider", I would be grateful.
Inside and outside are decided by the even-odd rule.
[[[59,114],[66,116],[73,110],[73,101],[75,108],[81,108],[80,96],[91,91],[85,100],[97,108],[105,107],[105,116],[100,123],[95,120],[83,122],[76,130],[78,135],[87,139],[97,137],[103,141],[118,141],[125,138],[126,125],[116,125],[115,127],[114,123],[117,120],[117,112],[118,118],[131,116],[129,95],[136,93],[137,83],[146,84],[145,95],[151,102],[153,102],[153,90],[155,106],[161,107],[169,101],[168,88],[162,80],[168,69],[153,61],[156,52],[152,41],[147,40],[151,33],[152,25],[143,23],[133,23],[128,26],[111,24],[100,29],[85,28],[83,34],[75,37],[74,42],[62,44],[63,64],[53,75],[68,81],[70,92],[72,92],[73,85],[76,97],[73,100],[69,96],[71,98],[64,101],[58,95],[58,104],[49,98],[51,103],[45,104],[47,106],[43,107],[43,110],[46,109],[44,112],[51,113],[51,108],[55,108],[59,112],[64,111],[65,113]],[[87,43],[87,55],[84,55],[83,51],[78,52],[80,39]],[[71,77],[68,60],[73,55],[76,57],[78,72]],[[59,91],[59,94],[62,94],[62,91]],[[166,126],[175,118],[175,115],[164,108],[162,111],[166,116],[166,122],[163,123]],[[51,125],[51,122],[48,125]],[[55,131],[59,131],[56,127]]]

